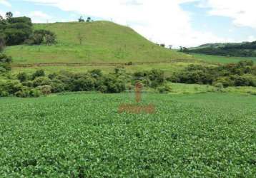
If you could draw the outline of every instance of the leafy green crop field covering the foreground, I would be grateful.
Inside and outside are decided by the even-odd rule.
[[[1,177],[254,177],[256,97],[133,94],[0,99]],[[131,99],[132,98],[132,99]]]

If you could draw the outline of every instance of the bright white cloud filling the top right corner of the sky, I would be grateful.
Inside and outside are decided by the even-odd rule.
[[[201,0],[200,7],[210,8],[212,16],[226,16],[235,26],[256,28],[255,0]]]

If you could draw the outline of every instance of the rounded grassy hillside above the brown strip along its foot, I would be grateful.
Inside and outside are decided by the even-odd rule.
[[[127,26],[109,21],[34,24],[56,33],[53,46],[9,46],[4,51],[14,64],[118,63],[187,60],[191,56],[148,41]]]

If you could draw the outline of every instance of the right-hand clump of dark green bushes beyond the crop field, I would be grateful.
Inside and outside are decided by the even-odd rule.
[[[219,67],[191,65],[167,80],[174,83],[256,87],[256,66],[253,61],[240,61]]]

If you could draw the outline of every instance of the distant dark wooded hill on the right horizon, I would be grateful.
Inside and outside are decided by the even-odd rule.
[[[184,48],[182,52],[216,56],[256,57],[256,41],[243,43],[209,43],[195,48]]]

